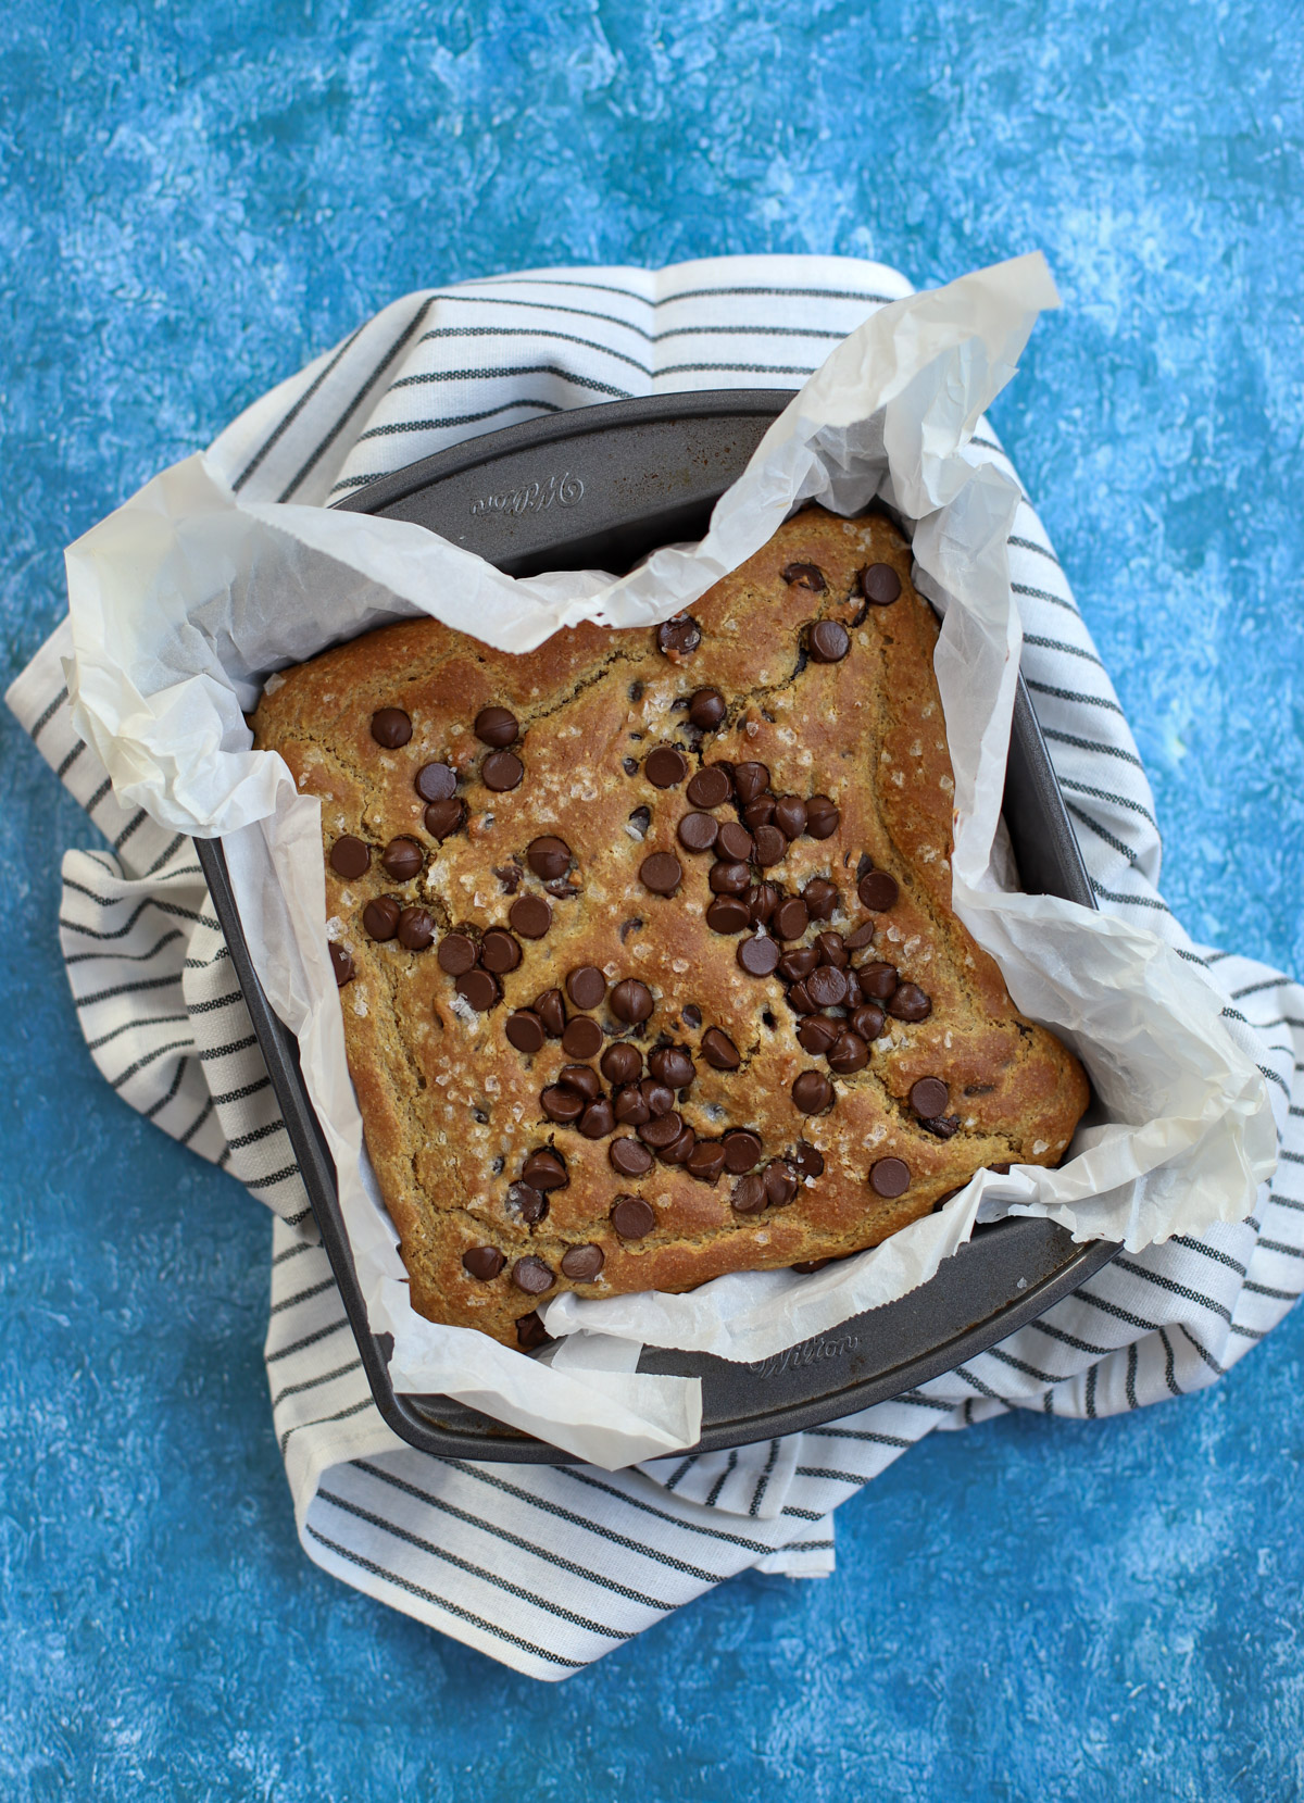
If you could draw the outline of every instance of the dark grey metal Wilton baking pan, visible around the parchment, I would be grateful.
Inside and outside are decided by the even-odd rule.
[[[440,451],[359,489],[343,508],[408,519],[498,564],[622,572],[658,545],[698,539],[786,389],[657,395],[575,407]],[[1093,907],[1091,885],[1028,691],[1019,680],[1005,820],[1023,887]],[[527,1433],[438,1396],[397,1396],[388,1334],[373,1334],[339,1210],[335,1170],[312,1111],[294,1035],[272,1013],[227,878],[220,840],[198,840],[258,1042],[377,1408],[404,1441],[442,1457],[570,1464]],[[938,1275],[904,1296],[754,1365],[646,1347],[638,1370],[702,1379],[700,1451],[794,1433],[898,1396],[1035,1320],[1116,1246],[1075,1246],[1050,1221],[979,1228]]]

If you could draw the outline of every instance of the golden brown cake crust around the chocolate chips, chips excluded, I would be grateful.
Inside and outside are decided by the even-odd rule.
[[[792,564],[813,564],[826,588],[785,581]],[[898,600],[862,600],[859,572],[871,564],[898,573]],[[1053,1165],[1062,1156],[1088,1100],[1082,1069],[1050,1033],[1019,1017],[999,970],[950,912],[954,786],[932,674],[938,629],[909,573],[909,546],[887,519],[844,521],[810,508],[696,604],[702,642],[687,656],[660,651],[655,631],[597,626],[510,656],[435,620],[413,620],[269,683],[254,716],[256,743],[280,750],[299,788],[321,799],[326,853],[346,833],[372,847],[361,878],[344,880],[326,864],[328,932],[354,961],[354,979],[341,990],[348,1062],[422,1314],[516,1345],[518,1320],[559,1287],[586,1296],[684,1291],[723,1271],[837,1257],[878,1244],[983,1165]],[[849,654],[828,664],[808,658],[817,620],[848,627]],[[729,714],[718,730],[696,734],[684,703],[703,687],[725,696]],[[411,718],[411,741],[399,750],[372,737],[372,714],[384,707]],[[480,777],[487,748],[473,721],[483,707],[507,707],[521,725],[514,748],[525,777],[507,793],[491,793]],[[644,763],[658,745],[682,746],[689,775],[718,761],[763,763],[774,795],[828,795],[839,806],[833,837],[794,838],[777,865],[752,874],[788,896],[830,878],[837,912],[812,921],[794,943],[875,920],[873,947],[851,963],[887,961],[929,995],[927,1019],[887,1020],[862,1071],[837,1076],[804,1051],[781,977],[747,975],[736,961],[739,941],[707,925],[712,856],[676,842],[691,804],[685,784],[647,781]],[[442,844],[426,831],[413,788],[429,761],[455,766],[467,810],[465,826]],[[649,815],[642,838],[640,808]],[[714,815],[736,820],[738,810],[727,804]],[[363,929],[363,909],[377,896],[424,905],[440,938],[464,929],[478,939],[507,927],[514,896],[545,892],[525,847],[546,833],[575,855],[566,878],[575,892],[548,898],[546,936],[519,939],[521,961],[500,977],[501,1001],[489,1011],[455,999],[436,947],[404,950]],[[408,882],[395,882],[379,862],[400,835],[424,853],[424,869]],[[638,878],[653,851],[673,853],[684,869],[673,898],[649,892]],[[857,896],[866,858],[900,885],[886,912],[871,914]],[[752,1129],[761,1172],[804,1141],[822,1154],[822,1174],[803,1181],[790,1204],[739,1213],[730,1201],[734,1176],[709,1183],[657,1161],[646,1177],[622,1177],[610,1147],[633,1129],[590,1139],[550,1121],[541,1089],[574,1060],[557,1039],[534,1055],[516,1051],[505,1024],[541,992],[565,990],[568,972],[584,965],[608,977],[606,997],[592,1010],[606,1046],[615,1033],[646,1055],[658,1044],[693,1055],[696,1075],[676,1111],[700,1141]],[[651,1019],[635,1030],[610,1008],[624,977],[655,997]],[[572,1019],[577,1011],[566,1004]],[[711,1028],[736,1044],[741,1069],[720,1071],[702,1057]],[[597,1075],[597,1060],[590,1067]],[[803,1071],[830,1076],[830,1112],[795,1107],[792,1085]],[[952,1138],[925,1129],[909,1103],[923,1076],[947,1084]],[[611,1093],[606,1080],[602,1093]],[[528,1224],[509,1190],[539,1147],[561,1152],[568,1183]],[[898,1197],[875,1194],[868,1181],[871,1165],[887,1158],[909,1168]],[[646,1237],[615,1231],[617,1195],[651,1204],[655,1226]],[[561,1273],[561,1258],[577,1246],[601,1248],[595,1280]],[[501,1251],[501,1275],[473,1277],[462,1262],[473,1248]],[[548,1266],[554,1284],[545,1296],[512,1280],[523,1257]]]

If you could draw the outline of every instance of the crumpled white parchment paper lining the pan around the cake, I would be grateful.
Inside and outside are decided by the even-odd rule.
[[[1021,629],[1005,541],[1017,489],[967,451],[1035,316],[1059,305],[1042,258],[884,307],[833,350],[718,503],[707,537],[626,577],[514,581],[420,526],[242,501],[233,471],[164,471],[67,554],[78,730],[123,804],[222,835],[249,948],[298,1033],[339,1172],[372,1327],[395,1338],[397,1388],[456,1397],[595,1464],[693,1444],[700,1385],[638,1376],[638,1343],[767,1358],[925,1282],[979,1219],[1042,1213],[1138,1249],[1250,1212],[1275,1163],[1259,1071],[1219,1001],[1160,939],[1051,898],[1001,891],[994,842]],[[887,501],[913,532],[916,581],[945,620],[936,669],[956,773],[954,902],[1030,1017],[1084,1060],[1104,1125],[1059,1170],[979,1174],[941,1213],[815,1277],[748,1273],[687,1296],[556,1298],[543,1359],[415,1314],[375,1192],[326,956],[319,804],[243,712],[269,673],[397,617],[435,613],[509,651],[590,618],[651,626],[750,557],[813,499],[853,516]]]

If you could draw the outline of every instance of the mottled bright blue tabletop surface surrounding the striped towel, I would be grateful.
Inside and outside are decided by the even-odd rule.
[[[730,251],[936,283],[1041,245],[1066,310],[996,422],[1171,902],[1299,970],[1302,92],[1291,0],[11,0],[5,671],[69,539],[404,290]],[[88,829],[0,734],[0,1794],[1304,1794],[1299,1318],[1192,1401],[932,1439],[840,1513],[828,1583],[745,1578],[561,1689],[321,1576],[267,1217],[94,1075],[54,938]]]

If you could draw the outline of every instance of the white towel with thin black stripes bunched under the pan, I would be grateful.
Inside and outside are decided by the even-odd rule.
[[[328,505],[494,426],[628,395],[790,386],[907,292],[840,258],[534,270],[395,301],[215,447],[258,499]],[[974,440],[1003,458],[990,431]],[[1100,905],[1208,970],[1273,1091],[1282,1163],[1241,1226],[1120,1257],[1041,1322],[922,1390],[812,1433],[610,1477],[462,1464],[377,1415],[195,851],[124,813],[70,727],[54,633],[9,692],[103,833],[63,860],[69,983],[105,1078],[272,1210],[267,1376],[303,1547],[346,1583],[492,1659],[563,1679],[745,1569],[817,1576],[833,1511],[932,1428],[1006,1408],[1106,1415],[1214,1383],[1304,1282],[1304,990],[1198,952],[1156,892],[1136,746],[1064,572],[1024,505],[1010,539],[1024,674]]]

